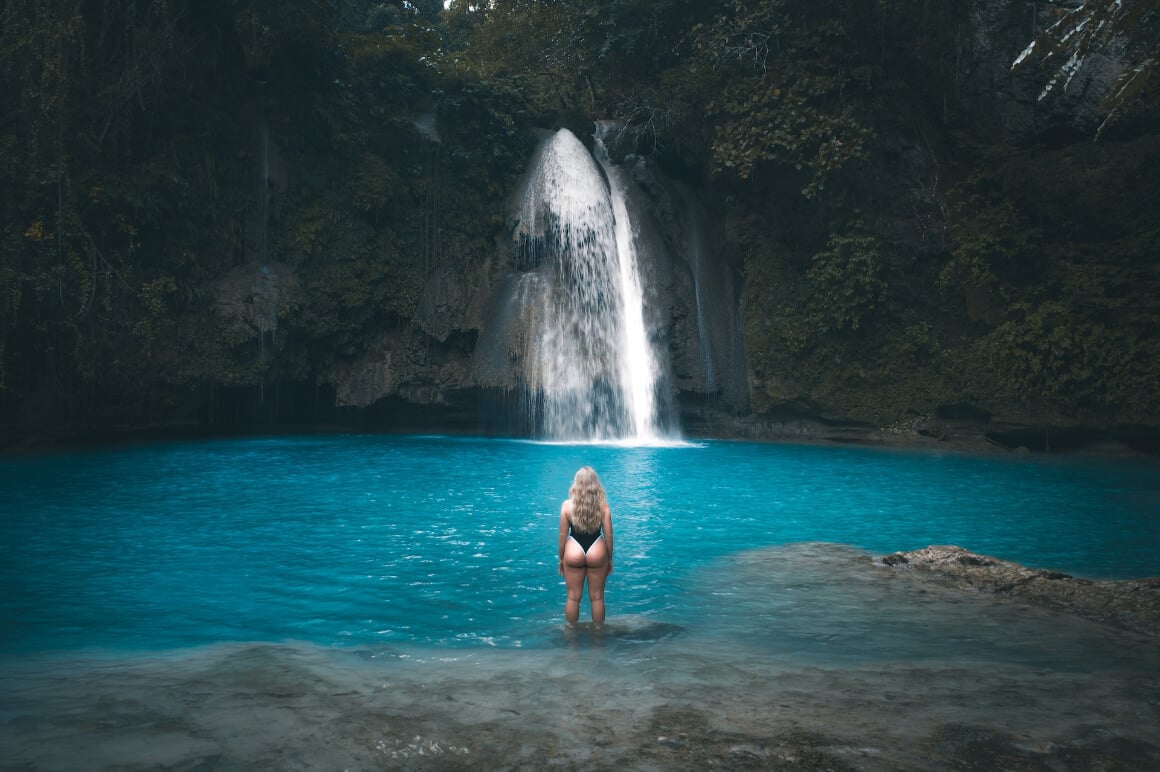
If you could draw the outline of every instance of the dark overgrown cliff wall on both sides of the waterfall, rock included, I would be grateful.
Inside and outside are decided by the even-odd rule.
[[[517,364],[537,312],[509,199],[538,132],[567,125],[590,144],[596,118],[621,115],[609,154],[631,180],[646,325],[687,434],[1155,450],[1160,136],[1140,114],[1092,141],[1122,50],[1093,52],[1041,100],[1051,73],[1012,63],[1051,3],[914,3],[914,35],[879,29],[879,49],[860,28],[846,43],[873,56],[841,66],[811,54],[828,44],[812,3],[740,3],[738,23],[780,5],[806,30],[778,63],[805,65],[782,80],[722,75],[724,22],[691,19],[693,3],[666,22],[686,42],[702,24],[684,59],[650,26],[607,43],[653,59],[571,50],[583,67],[546,80],[448,59],[440,72],[425,56],[447,41],[420,27],[336,37],[307,16],[217,8],[154,51],[184,86],[148,81],[153,114],[67,89],[59,126],[24,105],[41,117],[0,147],[78,140],[3,152],[0,435],[525,434]],[[477,51],[506,51],[479,35]],[[128,82],[101,73],[85,71]],[[31,82],[13,93],[39,93]],[[113,116],[106,139],[81,130],[89,114]],[[793,121],[799,133],[780,133]]]

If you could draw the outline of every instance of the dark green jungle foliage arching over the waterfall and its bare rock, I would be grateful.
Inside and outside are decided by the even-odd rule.
[[[1099,141],[966,119],[963,3],[14,0],[0,415],[212,421],[441,341],[531,132],[614,117],[727,224],[755,410],[1158,423],[1160,10],[1044,13],[1045,100],[1128,61]]]

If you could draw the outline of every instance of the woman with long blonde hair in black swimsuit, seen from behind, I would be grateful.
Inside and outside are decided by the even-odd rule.
[[[564,618],[580,619],[580,596],[588,581],[593,625],[604,624],[604,581],[612,573],[612,512],[590,466],[580,467],[560,505],[560,574],[568,589]]]

